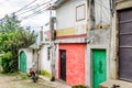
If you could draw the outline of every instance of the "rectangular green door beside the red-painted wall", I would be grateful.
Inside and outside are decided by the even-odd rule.
[[[92,88],[106,81],[106,50],[92,50]]]

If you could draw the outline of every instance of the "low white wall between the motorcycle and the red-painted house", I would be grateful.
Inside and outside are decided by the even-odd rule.
[[[41,63],[41,70],[46,70],[52,73],[51,61],[52,58],[47,58],[47,47],[48,45],[43,45],[40,51],[40,63]]]

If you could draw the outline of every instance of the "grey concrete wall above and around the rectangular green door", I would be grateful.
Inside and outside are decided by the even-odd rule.
[[[92,30],[88,33],[89,43],[87,44],[87,51],[86,51],[86,85],[89,87],[92,87],[92,53],[91,51],[97,50],[106,50],[107,53],[107,79],[110,78],[110,34],[111,30]]]

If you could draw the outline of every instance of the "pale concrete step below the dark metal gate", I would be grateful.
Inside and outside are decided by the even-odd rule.
[[[123,81],[123,80],[107,80],[100,84],[99,88],[113,88],[113,85],[120,86],[117,88],[132,88],[132,82]]]

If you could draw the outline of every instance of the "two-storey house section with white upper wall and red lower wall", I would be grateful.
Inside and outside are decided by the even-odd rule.
[[[56,79],[72,86],[85,85],[87,2],[62,1],[56,2]],[[78,15],[78,9],[82,14]]]

